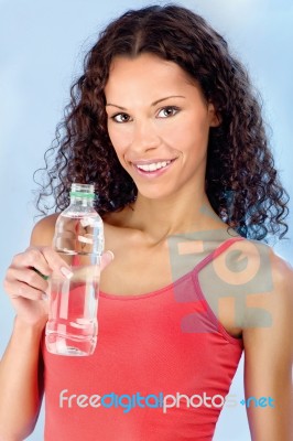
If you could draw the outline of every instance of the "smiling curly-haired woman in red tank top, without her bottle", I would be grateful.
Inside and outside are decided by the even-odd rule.
[[[291,440],[293,276],[261,243],[285,234],[286,193],[225,40],[181,7],[127,12],[89,52],[63,127],[39,198],[52,189],[56,214],[4,281],[1,439],[32,432],[45,390],[46,440],[211,440],[245,349],[251,439]],[[115,255],[98,346],[80,358],[46,352],[47,282],[32,269],[69,270],[51,244],[70,182],[95,183]]]

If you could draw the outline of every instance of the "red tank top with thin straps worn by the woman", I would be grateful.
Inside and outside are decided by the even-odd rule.
[[[94,355],[47,353],[46,441],[210,441],[242,353],[209,308],[198,272],[140,295],[100,292]]]

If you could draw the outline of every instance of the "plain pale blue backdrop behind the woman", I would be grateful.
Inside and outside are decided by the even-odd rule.
[[[248,67],[263,97],[276,166],[292,195],[292,1],[185,0],[177,3],[203,14]],[[0,0],[1,281],[13,255],[29,245],[36,214],[32,193],[36,185],[32,175],[43,166],[43,154],[68,101],[69,85],[82,72],[84,55],[109,20],[129,8],[146,4],[151,2]],[[292,230],[292,217],[290,224]],[[291,239],[278,244],[275,250],[292,263]],[[13,310],[1,286],[0,355],[12,323]],[[230,389],[239,401],[243,397],[242,375],[241,359]],[[247,441],[249,438],[245,408],[239,405],[224,409],[214,440]],[[43,412],[29,440],[41,439]]]

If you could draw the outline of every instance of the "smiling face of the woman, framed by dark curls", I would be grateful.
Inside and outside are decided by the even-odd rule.
[[[204,191],[208,133],[218,119],[177,64],[152,54],[116,57],[105,95],[112,146],[139,193]]]

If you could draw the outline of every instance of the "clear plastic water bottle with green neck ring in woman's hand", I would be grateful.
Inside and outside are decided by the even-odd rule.
[[[70,266],[73,277],[50,277],[45,342],[53,354],[91,355],[97,344],[104,225],[94,198],[94,185],[72,184],[70,204],[56,220],[53,248]]]

